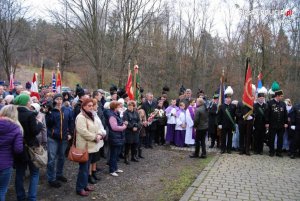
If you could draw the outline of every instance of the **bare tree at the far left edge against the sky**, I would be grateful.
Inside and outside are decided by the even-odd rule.
[[[0,0],[0,65],[9,80],[11,67],[16,69],[15,54],[22,46],[18,44],[26,9],[15,0]],[[24,44],[25,41],[22,41]]]

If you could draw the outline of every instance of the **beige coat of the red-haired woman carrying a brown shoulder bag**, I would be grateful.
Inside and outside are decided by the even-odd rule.
[[[103,140],[98,143],[95,141],[99,134],[100,125],[97,121],[92,121],[81,111],[76,117],[76,147],[84,149],[88,144],[88,152],[95,153],[103,146]]]

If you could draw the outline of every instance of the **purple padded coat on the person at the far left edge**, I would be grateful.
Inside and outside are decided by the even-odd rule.
[[[13,154],[23,151],[23,136],[20,127],[0,118],[0,170],[13,166]]]

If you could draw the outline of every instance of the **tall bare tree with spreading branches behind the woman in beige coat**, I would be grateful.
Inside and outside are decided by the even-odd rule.
[[[104,36],[107,5],[109,0],[100,3],[97,0],[68,0],[62,1],[66,10],[64,16],[65,37],[68,31],[76,38],[76,47],[87,58],[97,75],[97,87],[102,88],[102,69],[104,63],[101,55],[104,51]],[[67,15],[69,13],[69,16]],[[68,52],[68,38],[65,38],[65,56]]]

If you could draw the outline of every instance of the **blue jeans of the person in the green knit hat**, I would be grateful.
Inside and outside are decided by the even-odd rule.
[[[36,168],[31,161],[24,162],[21,164],[16,164],[16,180],[15,180],[15,189],[17,194],[18,201],[23,201],[26,198],[26,193],[24,189],[24,177],[25,171],[29,166],[30,171],[30,183],[28,188],[28,201],[37,200],[37,187],[39,183],[39,169]]]

